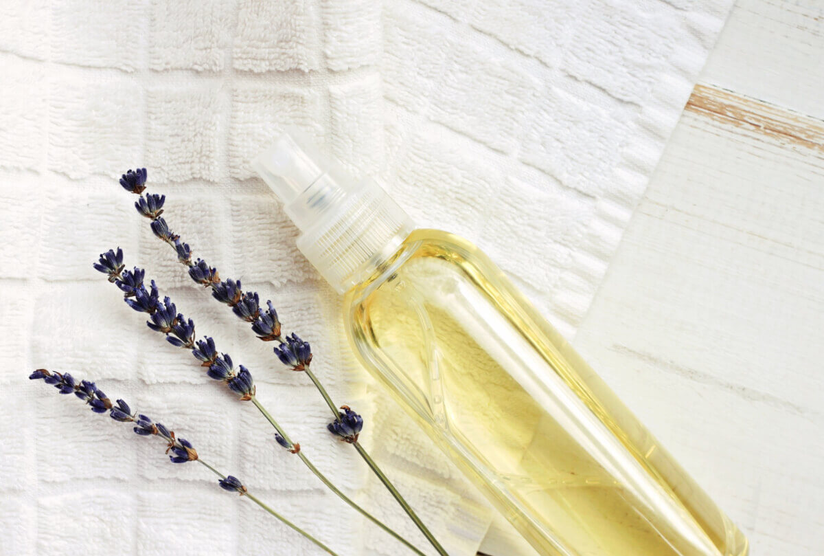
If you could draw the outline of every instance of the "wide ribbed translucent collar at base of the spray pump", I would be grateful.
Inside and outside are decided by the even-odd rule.
[[[321,210],[297,238],[297,247],[344,294],[372,276],[413,229],[410,217],[381,186],[365,180],[336,202],[334,210]]]

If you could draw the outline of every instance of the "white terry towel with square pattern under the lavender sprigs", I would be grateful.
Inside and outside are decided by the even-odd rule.
[[[152,237],[115,179],[135,165],[195,254],[312,343],[317,374],[363,413],[363,442],[450,554],[474,554],[488,507],[357,365],[340,299],[248,161],[283,125],[302,127],[421,226],[478,243],[571,336],[730,3],[4,2],[0,554],[319,554],[201,466],[170,464],[154,439],[30,383],[38,367],[127,398],[340,554],[403,554],[120,301],[91,269],[118,245],[250,368],[321,469],[424,546],[325,431],[306,378]]]

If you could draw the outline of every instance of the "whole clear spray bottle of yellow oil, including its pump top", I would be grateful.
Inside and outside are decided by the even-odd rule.
[[[254,167],[340,293],[363,365],[547,556],[747,540],[493,262],[283,135]]]

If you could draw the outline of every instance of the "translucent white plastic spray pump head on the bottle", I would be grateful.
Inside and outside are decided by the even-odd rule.
[[[339,293],[390,257],[414,226],[369,178],[354,180],[296,134],[283,134],[252,167],[301,230],[297,247]]]

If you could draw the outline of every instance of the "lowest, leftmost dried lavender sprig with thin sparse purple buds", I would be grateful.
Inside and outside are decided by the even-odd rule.
[[[291,529],[297,531],[297,533],[306,537],[320,549],[324,550],[327,554],[331,554],[331,556],[338,556],[334,550],[321,543],[320,540],[317,540],[314,536],[307,533],[307,531],[302,530],[292,521],[289,521],[283,515],[279,514],[277,511],[274,511],[267,504],[261,502],[260,499],[253,496],[238,478],[233,477],[232,475],[224,475],[219,472],[218,469],[215,469],[212,465],[206,463],[197,451],[194,450],[194,446],[192,446],[191,443],[186,441],[184,438],[176,436],[175,431],[171,431],[160,422],[153,422],[150,417],[147,417],[142,413],[133,412],[132,408],[129,407],[129,404],[122,399],[118,399],[115,403],[112,403],[111,400],[106,397],[105,393],[103,393],[101,389],[97,388],[95,383],[88,380],[81,380],[78,382],[68,373],[59,373],[56,371],[51,372],[45,369],[35,370],[35,372],[29,375],[29,379],[42,379],[44,383],[52,384],[59,390],[60,393],[63,394],[74,393],[77,398],[80,398],[83,402],[86,402],[93,412],[109,413],[109,417],[117,422],[132,423],[132,430],[138,436],[157,436],[157,438],[166,443],[166,454],[169,455],[169,459],[172,463],[185,464],[190,461],[199,462],[199,464],[204,465],[204,467],[212,471],[213,474],[218,475],[218,485],[220,488],[230,492],[237,492],[242,497],[246,497],[251,502],[255,502],[255,504],[269,512],[269,514],[283,522],[283,525],[287,525]]]

